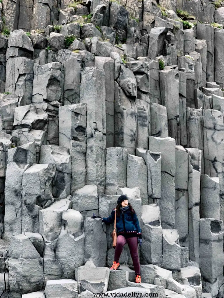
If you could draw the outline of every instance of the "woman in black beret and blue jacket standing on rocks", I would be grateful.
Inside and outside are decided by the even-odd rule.
[[[105,224],[112,224],[114,222],[115,209],[111,212],[109,217],[102,217],[102,222]],[[97,218],[93,213],[92,218]],[[123,246],[128,243],[133,265],[135,269],[135,282],[141,283],[140,263],[138,257],[138,243],[142,245],[142,233],[139,226],[137,215],[128,203],[126,195],[120,195],[116,206],[116,229],[117,229],[117,244],[114,253],[114,261],[111,270],[119,268],[119,258],[122,253]]]

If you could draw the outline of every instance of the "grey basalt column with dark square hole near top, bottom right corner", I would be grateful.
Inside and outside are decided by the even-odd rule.
[[[200,219],[200,270],[205,291],[223,296],[223,221],[214,218]]]

